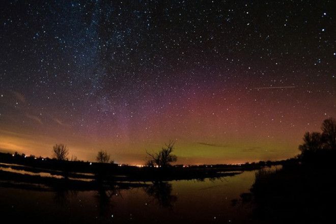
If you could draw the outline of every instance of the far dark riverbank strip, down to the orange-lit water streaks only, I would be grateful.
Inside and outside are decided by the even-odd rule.
[[[77,180],[108,181],[171,181],[232,176],[242,171],[257,170],[277,162],[217,165],[175,165],[168,167],[131,166],[114,163],[56,160],[18,154],[0,153],[3,171],[25,175]]]

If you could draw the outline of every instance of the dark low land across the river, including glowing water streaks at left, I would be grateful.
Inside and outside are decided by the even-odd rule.
[[[241,165],[200,165],[169,167],[137,167],[113,163],[60,161],[0,153],[0,186],[48,190],[140,187],[146,182],[171,180],[203,180],[240,174],[279,162],[245,163]]]

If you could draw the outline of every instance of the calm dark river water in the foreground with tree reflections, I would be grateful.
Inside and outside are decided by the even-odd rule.
[[[0,213],[36,223],[243,223],[255,171],[221,180],[171,181],[116,191],[34,191],[0,187]]]

